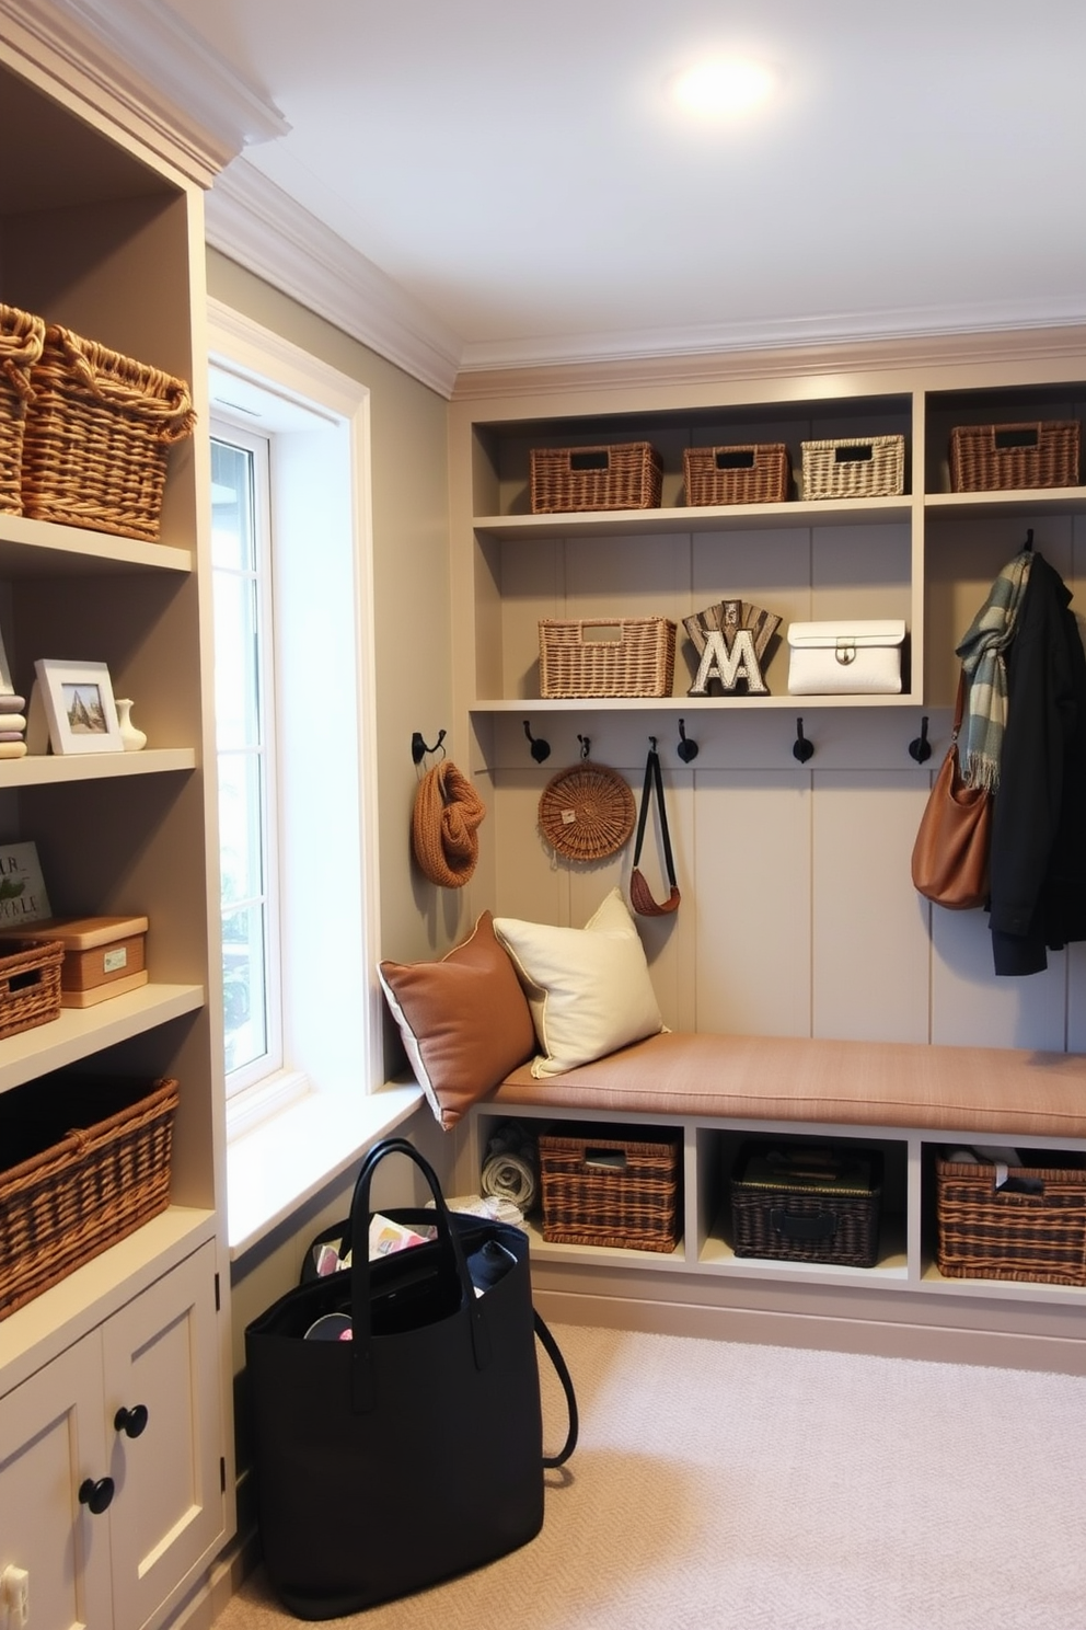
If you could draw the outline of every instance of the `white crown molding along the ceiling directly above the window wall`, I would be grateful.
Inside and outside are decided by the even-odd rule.
[[[446,399],[462,342],[244,158],[207,196],[207,241]]]

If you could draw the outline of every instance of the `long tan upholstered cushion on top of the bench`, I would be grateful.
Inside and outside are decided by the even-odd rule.
[[[547,1081],[523,1066],[485,1104],[1086,1138],[1086,1058],[666,1032]]]

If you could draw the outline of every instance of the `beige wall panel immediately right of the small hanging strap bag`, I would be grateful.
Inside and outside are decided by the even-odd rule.
[[[801,773],[694,779],[694,910],[684,927],[692,918],[698,1030],[811,1032],[809,799]]]

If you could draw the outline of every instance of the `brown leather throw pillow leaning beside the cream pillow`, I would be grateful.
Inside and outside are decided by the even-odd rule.
[[[440,962],[383,962],[378,973],[415,1079],[446,1131],[532,1056],[528,998],[490,911]]]

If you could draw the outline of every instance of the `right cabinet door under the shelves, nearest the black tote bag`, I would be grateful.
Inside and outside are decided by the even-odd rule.
[[[103,1353],[114,1622],[138,1630],[225,1537],[213,1245],[114,1314]],[[130,1436],[119,1412],[138,1407],[147,1425]]]

